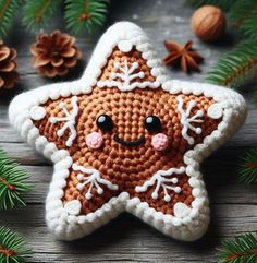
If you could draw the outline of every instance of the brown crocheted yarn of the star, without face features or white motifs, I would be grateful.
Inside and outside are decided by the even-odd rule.
[[[133,61],[139,63],[139,68],[145,73],[145,79],[142,81],[155,81],[150,74],[150,69],[146,61],[140,57],[138,51],[132,50],[124,55],[118,49],[110,56],[107,65],[102,69],[100,80],[109,80],[110,72],[113,72],[114,61],[122,61],[127,59],[128,64]],[[196,134],[188,131],[188,135],[194,138],[195,144],[201,143],[204,138],[209,135],[217,129],[220,120],[213,120],[207,116],[207,110],[211,104],[212,98],[207,98],[203,95],[196,96],[193,94],[183,95],[184,109],[187,108],[191,100],[196,101],[196,107],[192,110],[192,116],[197,110],[203,110],[204,122],[197,123],[203,132]],[[118,191],[109,190],[105,186],[103,193],[100,195],[93,189],[93,199],[86,200],[85,194],[88,190],[88,184],[83,191],[76,189],[78,183],[77,171],[70,170],[70,176],[66,179],[66,187],[64,189],[63,202],[79,200],[82,203],[82,214],[100,208],[101,205],[112,196],[125,191],[131,198],[138,196],[140,201],[145,201],[150,207],[161,211],[166,214],[173,215],[173,206],[176,202],[183,202],[191,206],[194,200],[192,195],[192,188],[188,184],[188,176],[173,175],[178,177],[181,187],[181,193],[170,192],[172,200],[166,202],[163,200],[164,193],[162,189],[159,191],[157,200],[151,198],[154,187],[148,188],[144,193],[135,192],[136,186],[142,186],[147,179],[150,179],[158,170],[168,170],[171,167],[179,168],[183,163],[183,156],[186,151],[193,148],[194,145],[188,145],[187,141],[183,139],[182,125],[180,123],[180,113],[178,112],[178,95],[172,95],[164,92],[162,88],[135,88],[132,92],[121,92],[115,87],[98,88],[94,87],[90,94],[78,95],[79,112],[76,118],[77,136],[73,145],[68,148],[65,142],[70,136],[70,131],[65,131],[64,135],[59,138],[57,131],[63,125],[62,122],[52,124],[49,121],[50,117],[64,117],[62,109],[60,109],[60,101],[66,104],[68,110],[72,110],[71,97],[60,98],[56,101],[48,100],[44,107],[47,110],[47,116],[41,121],[36,121],[35,124],[39,129],[41,135],[46,136],[49,142],[54,142],[58,148],[65,148],[70,152],[73,162],[85,167],[94,167],[99,170],[101,177],[119,186]],[[102,132],[96,124],[98,116],[109,115],[114,123],[111,132]],[[169,147],[166,151],[158,152],[151,145],[150,133],[144,127],[144,120],[147,116],[158,116],[162,123],[162,132],[169,138]],[[99,132],[103,136],[103,145],[99,150],[90,150],[86,145],[86,136],[91,132]],[[140,135],[145,136],[145,143],[139,146],[123,146],[113,140],[113,135],[118,134],[125,141],[136,141]]]

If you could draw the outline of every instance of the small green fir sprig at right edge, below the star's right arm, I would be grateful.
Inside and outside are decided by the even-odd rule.
[[[241,182],[257,182],[257,148],[250,150],[246,156],[242,157],[238,175]]]

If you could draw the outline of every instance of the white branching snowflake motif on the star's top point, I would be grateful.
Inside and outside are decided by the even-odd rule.
[[[111,80],[107,81],[98,81],[97,85],[99,87],[113,87],[117,86],[120,91],[132,91],[135,87],[144,88],[144,87],[152,87],[156,88],[159,86],[159,83],[157,81],[155,82],[149,82],[149,81],[144,81],[144,82],[132,82],[133,80],[139,77],[144,79],[145,73],[143,71],[135,72],[136,69],[138,69],[139,64],[138,62],[133,62],[131,67],[128,67],[128,62],[126,59],[124,59],[123,63],[120,62],[114,62],[114,70],[115,72],[112,72],[110,75]],[[118,70],[121,71],[121,73],[118,72]],[[117,79],[121,79],[121,81],[117,81]]]

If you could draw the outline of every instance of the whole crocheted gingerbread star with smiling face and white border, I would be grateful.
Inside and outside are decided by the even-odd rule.
[[[81,80],[21,94],[10,121],[54,164],[46,220],[59,238],[128,212],[175,239],[209,223],[203,159],[244,122],[234,91],[169,80],[148,37],[122,22],[99,40]]]

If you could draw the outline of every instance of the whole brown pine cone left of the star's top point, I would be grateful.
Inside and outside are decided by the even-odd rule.
[[[63,76],[74,68],[81,58],[81,51],[74,46],[76,39],[60,31],[52,34],[39,34],[32,45],[33,67],[47,77]]]

